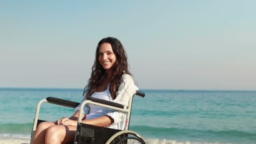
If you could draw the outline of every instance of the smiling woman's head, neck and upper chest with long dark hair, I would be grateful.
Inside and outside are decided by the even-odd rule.
[[[88,98],[94,91],[106,90],[108,82],[109,91],[112,99],[115,99],[120,80],[123,74],[131,75],[128,70],[127,54],[122,43],[115,37],[107,37],[99,41],[95,53],[95,61],[92,66],[91,78],[89,79],[87,90],[84,94]],[[103,83],[104,88],[101,89],[99,85]]]

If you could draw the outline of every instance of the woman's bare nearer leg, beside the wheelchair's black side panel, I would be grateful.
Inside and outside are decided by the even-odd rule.
[[[75,141],[76,125],[52,125],[45,133],[45,144],[68,144]]]

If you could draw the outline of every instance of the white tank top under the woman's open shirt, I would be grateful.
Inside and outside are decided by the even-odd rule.
[[[112,101],[111,94],[109,92],[109,85],[107,85],[107,90],[106,91],[101,91],[101,92],[94,92],[91,97],[97,98],[97,99],[103,99],[106,101]],[[90,107],[90,112],[88,115],[86,115],[85,119],[92,119],[92,118],[97,118],[105,115],[109,108],[106,107],[101,107],[101,106],[96,106],[94,104],[88,104]]]

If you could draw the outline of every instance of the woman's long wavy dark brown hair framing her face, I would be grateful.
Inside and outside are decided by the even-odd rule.
[[[102,78],[107,74],[107,70],[104,69],[99,63],[99,47],[102,43],[109,43],[112,46],[112,50],[116,56],[115,64],[112,66],[112,76],[109,80],[109,91],[112,99],[115,99],[119,85],[123,74],[131,73],[128,70],[127,54],[123,48],[122,43],[115,37],[106,37],[99,41],[95,53],[95,60],[92,66],[91,78],[88,80],[88,85],[85,86],[83,95],[86,93],[86,98],[90,97],[94,93],[94,89],[99,87],[102,82]]]

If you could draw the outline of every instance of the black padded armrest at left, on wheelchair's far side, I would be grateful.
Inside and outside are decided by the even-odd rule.
[[[59,98],[55,98],[55,97],[48,97],[48,98],[46,98],[46,100],[51,104],[58,104],[58,105],[61,105],[61,106],[71,107],[71,108],[76,108],[80,104],[80,103],[75,102],[75,101],[59,99]]]

